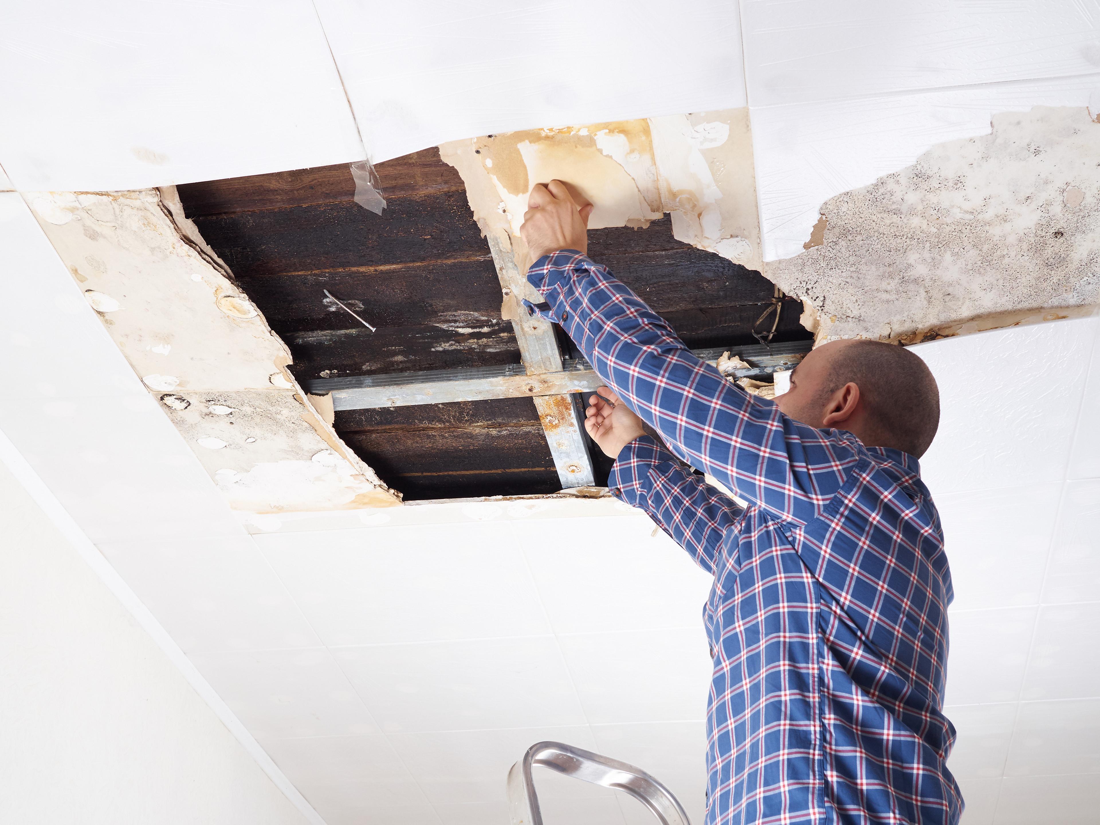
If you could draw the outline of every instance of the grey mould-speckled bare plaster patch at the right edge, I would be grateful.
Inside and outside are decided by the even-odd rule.
[[[806,245],[765,274],[818,341],[1080,314],[1100,301],[1100,124],[1076,108],[998,114],[991,134],[826,201]]]

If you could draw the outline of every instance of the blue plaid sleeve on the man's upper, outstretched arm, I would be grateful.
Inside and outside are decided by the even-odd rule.
[[[858,441],[818,430],[751,396],[695,358],[605,266],[574,250],[527,273],[544,298],[530,315],[560,323],[607,383],[669,448],[740,498],[802,526],[858,462]]]

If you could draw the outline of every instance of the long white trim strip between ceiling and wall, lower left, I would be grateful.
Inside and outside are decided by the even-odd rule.
[[[299,813],[314,825],[327,825],[320,814],[314,810],[306,798],[282,769],[267,755],[267,751],[256,741],[244,723],[226,704],[221,695],[213,690],[198,668],[176,644],[175,639],[161,625],[152,610],[145,606],[133,592],[122,575],[113,568],[99,548],[85,534],[76,519],[69,515],[61,501],[23,458],[8,436],[0,430],[0,463],[3,463],[31,495],[34,503],[45,512],[51,522],[62,537],[76,550],[77,554],[95,571],[99,580],[119,600],[122,607],[134,618],[134,622],[147,632],[153,642],[164,652],[191,689],[206,702],[218,719],[229,729],[241,744],[245,752],[255,760],[258,768],[271,779],[272,783],[287,798]]]

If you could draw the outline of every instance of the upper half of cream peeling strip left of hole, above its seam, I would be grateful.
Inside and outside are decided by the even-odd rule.
[[[180,389],[263,389],[273,369],[290,363],[213,253],[177,230],[156,189],[26,199],[143,378],[170,375]]]

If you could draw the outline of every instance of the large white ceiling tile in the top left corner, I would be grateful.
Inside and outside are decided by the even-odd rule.
[[[187,13],[22,3],[4,35],[20,48],[0,53],[0,158],[21,191],[135,189],[363,154],[309,0]]]

